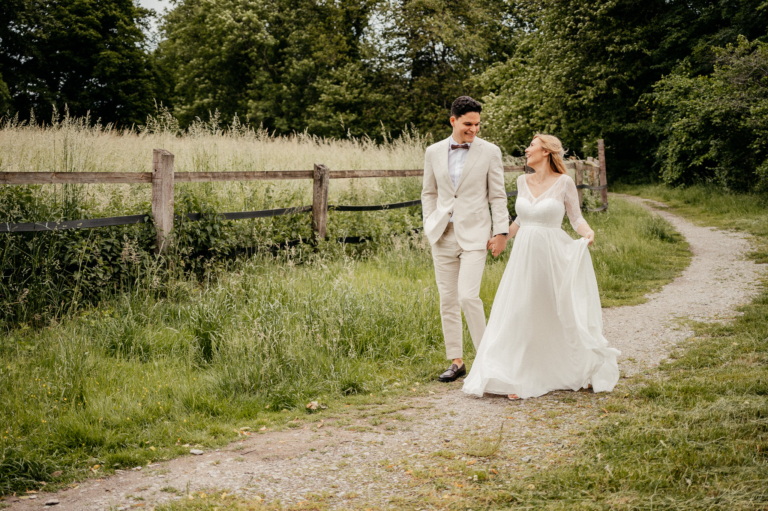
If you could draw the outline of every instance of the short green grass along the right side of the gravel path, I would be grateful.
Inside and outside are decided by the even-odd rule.
[[[768,211],[759,195],[724,194],[708,187],[617,187],[622,193],[664,201],[701,225],[754,236],[749,257],[765,260]],[[622,204],[620,200],[612,202]],[[603,218],[609,218],[605,216]],[[650,220],[648,218],[646,221]],[[597,221],[590,218],[597,225]],[[595,256],[593,252],[593,256]],[[597,257],[595,260],[599,260]],[[598,270],[598,278],[604,275]],[[605,300],[605,297],[604,297]],[[435,453],[421,484],[460,488],[452,499],[426,497],[434,509],[552,510],[763,510],[768,506],[768,290],[741,307],[728,323],[695,324],[694,336],[656,369],[622,380],[601,395],[599,409],[573,439],[573,458],[549,468],[521,467],[491,483],[484,469]],[[590,395],[564,403],[595,404]],[[595,396],[596,397],[596,396]],[[493,466],[499,445],[483,445]],[[473,458],[474,459],[474,458]],[[448,470],[446,470],[446,468]],[[467,474],[485,480],[467,484]],[[161,509],[279,509],[241,499],[180,501]],[[229,497],[231,499],[231,496]],[[326,509],[322,496],[296,509]]]

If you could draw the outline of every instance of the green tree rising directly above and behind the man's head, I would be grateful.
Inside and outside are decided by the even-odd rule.
[[[404,118],[446,136],[453,100],[483,93],[474,78],[512,55],[520,28],[503,0],[393,0],[379,19],[374,49],[400,79]]]

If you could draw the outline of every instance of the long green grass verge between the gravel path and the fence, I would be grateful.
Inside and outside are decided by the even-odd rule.
[[[688,262],[680,237],[639,206],[617,200],[588,220],[606,304],[637,303]],[[507,256],[489,259],[487,308]],[[0,344],[0,491],[223,445],[243,427],[285,426],[309,401],[394,393],[444,369],[422,238],[367,259],[301,260],[253,259],[162,293],[150,282],[60,324],[12,331]]]

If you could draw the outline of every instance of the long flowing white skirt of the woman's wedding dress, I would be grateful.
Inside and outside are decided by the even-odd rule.
[[[521,227],[463,391],[537,397],[619,379],[603,337],[603,314],[587,240],[561,228]]]

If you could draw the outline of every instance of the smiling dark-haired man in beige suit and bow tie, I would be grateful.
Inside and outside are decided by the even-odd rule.
[[[443,382],[467,374],[462,360],[461,311],[475,349],[485,332],[480,282],[491,219],[499,252],[506,247],[509,231],[501,150],[477,137],[481,111],[474,99],[457,98],[451,105],[453,133],[429,146],[424,158],[424,232],[432,245],[445,350],[451,360],[451,367],[439,377]]]

